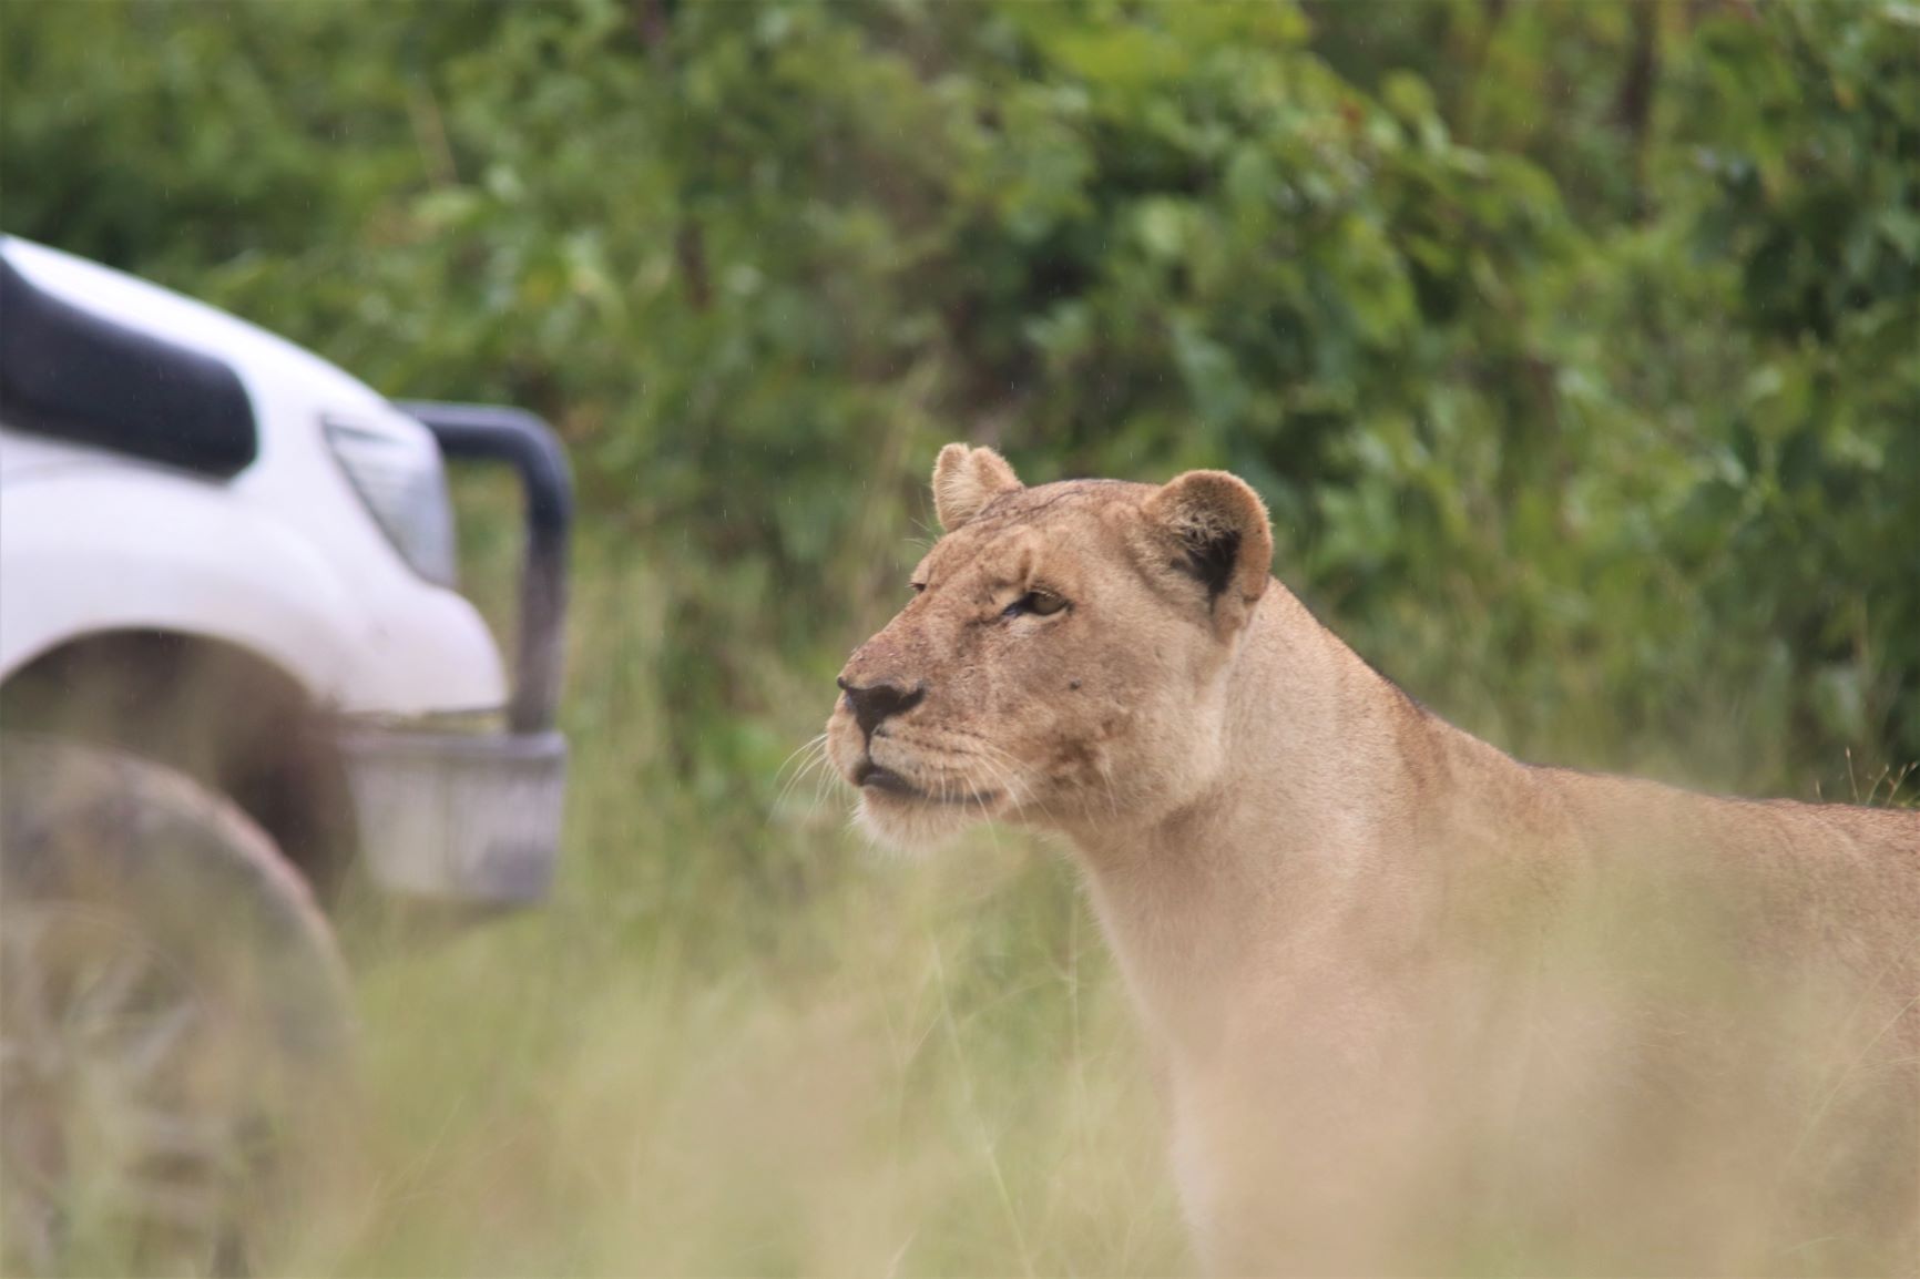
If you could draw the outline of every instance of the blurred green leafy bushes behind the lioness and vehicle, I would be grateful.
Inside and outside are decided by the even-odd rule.
[[[1238,471],[1296,590],[1521,751],[1920,757],[1907,4],[8,15],[8,229],[559,421],[712,795],[952,436]]]

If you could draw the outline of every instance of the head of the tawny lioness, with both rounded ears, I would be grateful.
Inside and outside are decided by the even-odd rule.
[[[948,444],[933,501],[947,532],[828,722],[866,828],[897,845],[981,818],[1089,830],[1198,795],[1269,582],[1254,490],[1219,471],[1025,488],[993,449]]]

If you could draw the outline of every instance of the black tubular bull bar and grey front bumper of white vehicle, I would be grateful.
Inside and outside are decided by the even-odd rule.
[[[515,689],[503,734],[346,728],[340,753],[359,810],[361,860],[388,893],[513,906],[553,883],[566,799],[566,739],[555,732],[566,645],[566,453],[532,413],[401,401],[447,457],[511,465],[526,494],[526,555]]]

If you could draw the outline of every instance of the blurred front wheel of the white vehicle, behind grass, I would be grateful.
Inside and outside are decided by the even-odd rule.
[[[0,737],[0,1269],[273,1264],[342,1168],[351,1039],[326,922],[238,808]]]

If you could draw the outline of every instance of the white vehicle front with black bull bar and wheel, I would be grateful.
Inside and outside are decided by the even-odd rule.
[[[444,453],[522,478],[511,688]],[[6,1273],[248,1266],[248,1125],[349,1039],[332,905],[545,893],[568,520],[530,415],[0,238]]]

